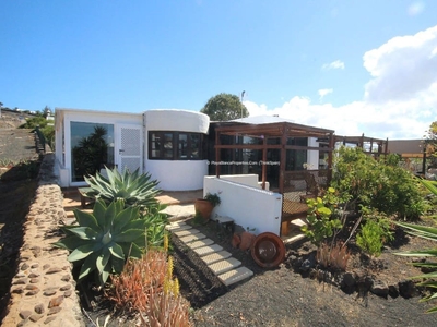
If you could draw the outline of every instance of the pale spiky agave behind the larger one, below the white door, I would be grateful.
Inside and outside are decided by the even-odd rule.
[[[95,177],[85,177],[85,182],[91,187],[85,193],[86,197],[101,198],[106,203],[122,198],[126,206],[139,206],[141,209],[156,205],[155,196],[161,191],[156,187],[158,182],[151,180],[150,173],[140,173],[139,169],[132,173],[128,169],[122,173],[117,168],[105,169],[107,178],[99,172]]]

